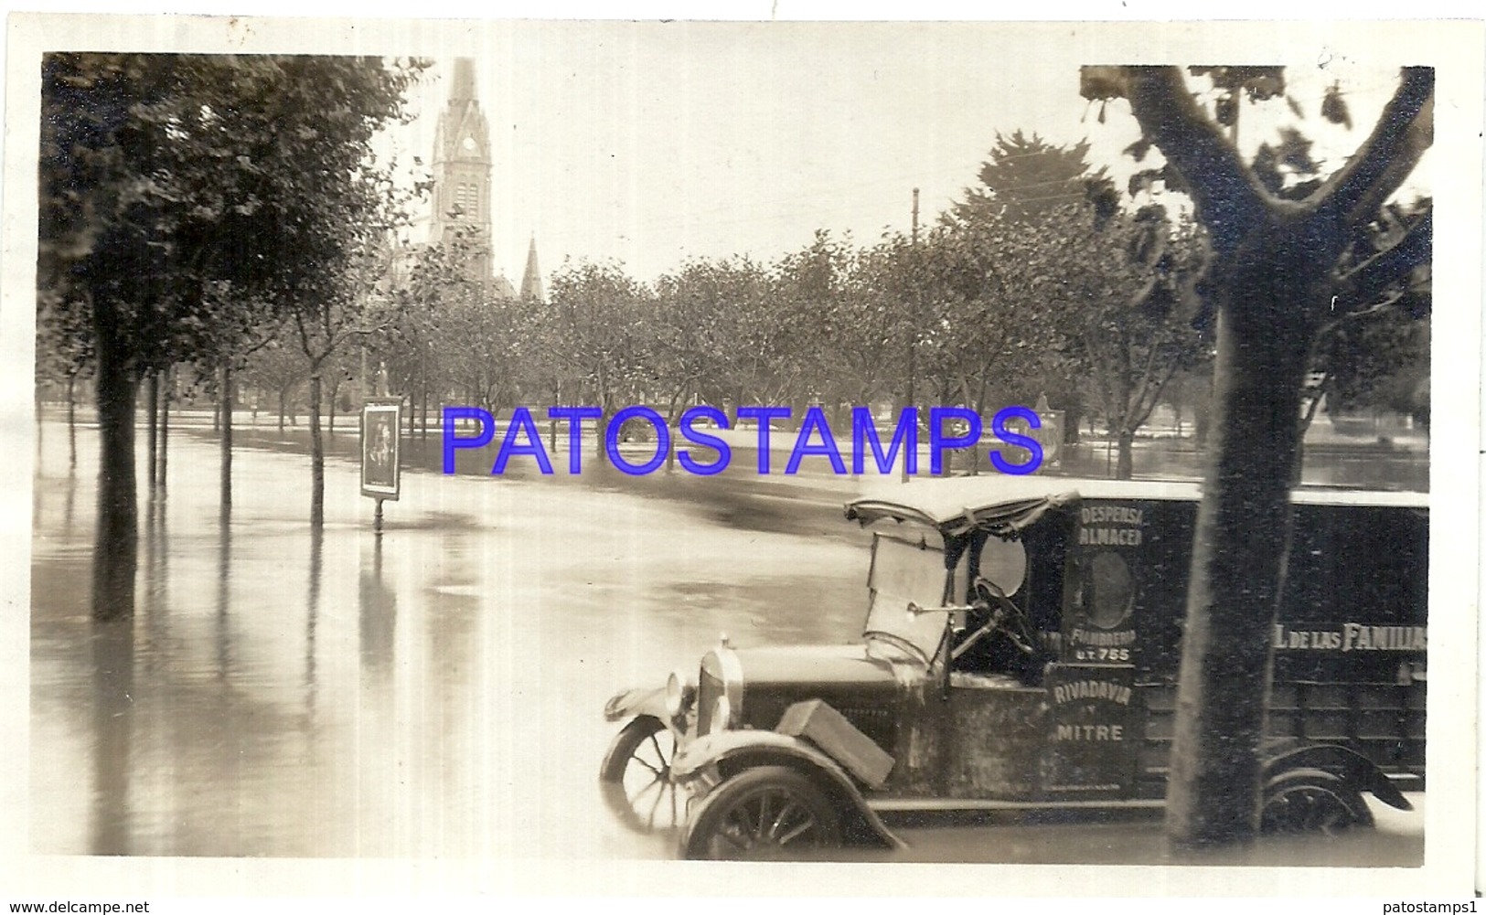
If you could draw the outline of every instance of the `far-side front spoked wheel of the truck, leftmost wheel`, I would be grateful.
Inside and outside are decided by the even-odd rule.
[[[670,763],[676,737],[658,717],[642,714],[624,725],[599,768],[605,805],[635,832],[666,832],[685,820]]]

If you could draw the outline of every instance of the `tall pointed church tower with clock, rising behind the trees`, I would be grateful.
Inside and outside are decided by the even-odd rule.
[[[428,241],[447,242],[459,230],[477,254],[470,272],[495,282],[490,261],[490,125],[474,91],[474,61],[455,59],[449,102],[434,132],[434,218]],[[496,284],[499,285],[510,284]]]

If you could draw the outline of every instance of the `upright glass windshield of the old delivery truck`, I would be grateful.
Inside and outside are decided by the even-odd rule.
[[[945,603],[944,551],[890,536],[872,538],[872,569],[866,587],[871,605],[863,637],[905,649],[930,661],[944,637],[945,613],[909,613],[909,602],[936,608]]]

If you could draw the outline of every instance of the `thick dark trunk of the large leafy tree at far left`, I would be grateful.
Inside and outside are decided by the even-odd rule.
[[[101,310],[95,306],[97,310]],[[111,316],[111,315],[110,315]],[[98,351],[98,530],[94,539],[92,615],[134,615],[138,501],[134,480],[134,403],[138,379],[123,346],[94,319]]]

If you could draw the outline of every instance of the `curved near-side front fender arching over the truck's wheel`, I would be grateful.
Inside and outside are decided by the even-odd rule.
[[[676,752],[672,778],[687,783],[704,777],[715,768],[724,778],[742,769],[761,765],[785,765],[816,781],[816,786],[843,808],[847,835],[875,839],[887,848],[906,848],[877,813],[837,761],[814,744],[777,731],[719,731],[700,737]]]

